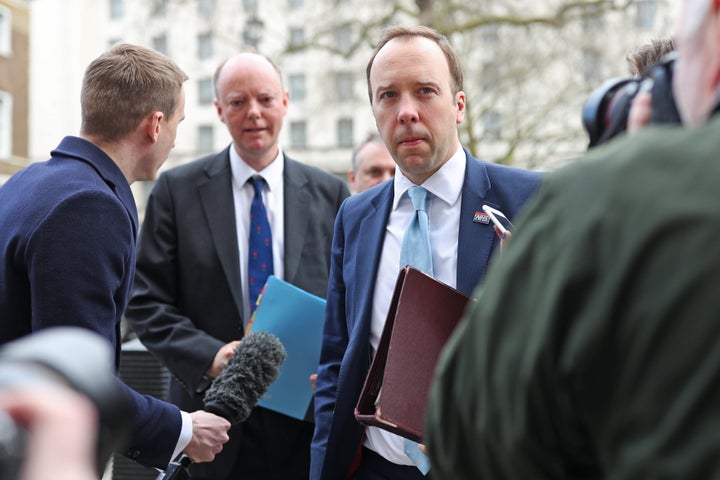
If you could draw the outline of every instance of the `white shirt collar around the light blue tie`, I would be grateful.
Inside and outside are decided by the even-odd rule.
[[[458,144],[455,153],[450,159],[433,173],[430,178],[425,180],[421,185],[428,192],[438,197],[448,205],[454,205],[460,198],[462,192],[463,181],[465,179],[465,150],[460,148]],[[400,169],[395,172],[393,180],[393,188],[395,196],[393,198],[393,210],[397,209],[405,192],[414,184],[408,179]]]

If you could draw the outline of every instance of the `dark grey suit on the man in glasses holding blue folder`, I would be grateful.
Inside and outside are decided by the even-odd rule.
[[[327,294],[333,223],[349,196],[343,180],[284,158],[285,280]],[[143,344],[172,373],[169,400],[191,412],[215,353],[243,336],[240,266],[229,148],[163,173],[148,200],[126,311]],[[312,425],[256,408],[193,478],[306,478]]]

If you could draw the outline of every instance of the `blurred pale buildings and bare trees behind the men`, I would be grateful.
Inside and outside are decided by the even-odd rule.
[[[46,160],[80,124],[87,64],[116,42],[153,47],[190,76],[186,120],[163,168],[230,141],[212,76],[228,55],[277,61],[290,91],[283,147],[344,176],[375,129],[365,66],[383,26],[424,24],[461,56],[465,146],[480,158],[550,170],[587,146],[584,100],[625,55],[671,35],[669,0],[0,0],[0,183]],[[140,211],[151,185],[134,186]]]

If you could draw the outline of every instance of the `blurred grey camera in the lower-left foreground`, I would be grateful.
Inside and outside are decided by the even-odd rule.
[[[54,327],[0,347],[0,391],[14,387],[73,389],[98,411],[98,478],[128,438],[128,400],[115,378],[113,352],[100,335],[79,327]],[[38,389],[39,392],[44,392]],[[19,478],[26,432],[0,412],[0,479]]]

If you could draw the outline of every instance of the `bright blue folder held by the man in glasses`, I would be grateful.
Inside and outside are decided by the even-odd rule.
[[[308,378],[320,362],[325,303],[275,276],[268,278],[248,330],[274,334],[287,356],[259,406],[312,421],[313,391]]]

